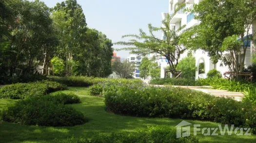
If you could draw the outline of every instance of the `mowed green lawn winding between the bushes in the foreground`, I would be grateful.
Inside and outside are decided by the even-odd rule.
[[[67,105],[81,111],[89,122],[75,127],[37,127],[14,123],[0,122],[0,143],[52,143],[54,139],[67,139],[70,137],[90,137],[98,133],[135,132],[139,128],[148,126],[177,126],[182,119],[169,118],[141,118],[121,116],[105,111],[104,98],[89,96],[88,88],[70,87],[65,93],[73,92],[81,95],[82,103]],[[0,99],[0,109],[15,100]],[[192,124],[203,127],[218,127],[217,123],[186,120]],[[213,131],[211,131],[212,133]],[[217,132],[219,133],[219,132]],[[244,132],[245,133],[245,132]],[[193,127],[191,128],[193,134]],[[252,136],[197,136],[200,143],[255,143],[256,135]]]

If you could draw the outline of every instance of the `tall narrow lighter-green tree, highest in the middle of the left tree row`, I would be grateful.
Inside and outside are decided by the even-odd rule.
[[[81,6],[77,0],[66,0],[57,5],[53,9],[53,19],[56,29],[58,29],[59,47],[58,56],[65,63],[65,73],[70,75],[75,61],[74,55],[79,48],[82,47],[81,35],[85,34],[86,19]]]

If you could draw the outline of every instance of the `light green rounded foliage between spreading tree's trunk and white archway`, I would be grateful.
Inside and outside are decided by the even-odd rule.
[[[182,72],[182,77],[186,79],[195,79],[196,58],[192,56],[181,59],[177,65],[177,70]]]

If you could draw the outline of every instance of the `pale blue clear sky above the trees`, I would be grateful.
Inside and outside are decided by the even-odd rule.
[[[41,0],[54,7],[63,0]],[[161,26],[161,12],[168,12],[169,0],[77,0],[82,6],[89,28],[107,35],[113,43],[123,41],[122,35],[148,31],[148,24]],[[156,33],[160,37],[161,33]],[[113,48],[121,48],[114,45]],[[121,58],[127,58],[129,51],[117,51]]]

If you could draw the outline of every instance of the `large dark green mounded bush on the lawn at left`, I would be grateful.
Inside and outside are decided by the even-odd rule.
[[[24,125],[53,127],[81,125],[86,121],[81,112],[40,97],[17,101],[2,111],[1,119]]]

